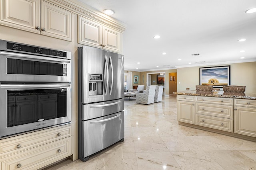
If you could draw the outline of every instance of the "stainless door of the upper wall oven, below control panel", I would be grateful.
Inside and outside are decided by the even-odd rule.
[[[0,51],[0,82],[71,82],[71,61]]]

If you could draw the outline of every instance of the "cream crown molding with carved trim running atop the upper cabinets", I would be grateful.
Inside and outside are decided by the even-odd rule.
[[[56,4],[57,6],[61,6],[62,8],[66,8],[75,14],[88,17],[88,18],[91,18],[92,20],[96,20],[101,23],[104,23],[105,25],[118,29],[119,31],[124,32],[127,28],[127,25],[125,23],[115,20],[114,18],[110,18],[109,16],[77,0],[72,0],[72,1],[71,0],[48,0],[48,1]]]

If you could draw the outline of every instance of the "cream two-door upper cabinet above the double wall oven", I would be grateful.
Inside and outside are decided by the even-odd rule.
[[[0,24],[71,41],[71,12],[40,0],[1,0]]]

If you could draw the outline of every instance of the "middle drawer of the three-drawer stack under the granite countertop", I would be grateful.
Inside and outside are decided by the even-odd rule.
[[[196,103],[196,113],[233,119],[233,106]]]

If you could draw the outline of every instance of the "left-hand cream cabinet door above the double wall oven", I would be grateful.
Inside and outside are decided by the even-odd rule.
[[[1,0],[0,24],[40,33],[40,0]]]

